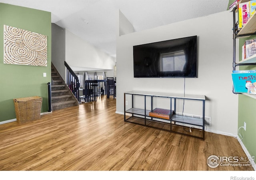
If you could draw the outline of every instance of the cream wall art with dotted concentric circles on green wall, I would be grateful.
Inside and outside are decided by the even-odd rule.
[[[4,25],[4,64],[47,66],[47,36]]]

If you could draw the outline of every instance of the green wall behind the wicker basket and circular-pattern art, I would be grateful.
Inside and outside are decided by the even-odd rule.
[[[4,64],[4,25],[47,36],[48,66]],[[0,122],[15,119],[14,98],[40,96],[41,112],[48,111],[48,87],[51,82],[51,13],[0,3]],[[46,72],[46,77],[43,73]]]

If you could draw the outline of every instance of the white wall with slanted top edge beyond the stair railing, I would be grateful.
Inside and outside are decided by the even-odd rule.
[[[69,66],[113,70],[115,58],[66,30],[66,62]]]

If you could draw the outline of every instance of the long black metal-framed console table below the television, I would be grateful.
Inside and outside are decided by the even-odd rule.
[[[131,107],[126,110],[126,100],[131,100]],[[135,96],[144,97],[140,104],[144,103],[144,108],[136,108]],[[156,118],[156,116],[150,116],[150,112],[154,110],[154,99],[156,98],[168,98],[170,99],[170,106],[167,108],[170,112],[174,112],[169,119]],[[191,100],[190,104],[193,105],[192,101],[202,102],[202,118],[182,116],[182,114],[176,113],[176,100]],[[150,107],[147,107],[147,101],[150,101]],[[127,101],[128,102],[128,101]],[[130,102],[130,101],[129,101]],[[160,93],[160,92],[144,92],[144,91],[129,91],[124,92],[124,121],[165,130],[168,132],[174,132],[183,134],[186,136],[192,136],[204,140],[204,117],[205,117],[205,96],[204,95],[188,95],[188,94],[176,94],[176,93]],[[152,123],[154,122],[154,123]],[[159,123],[159,124],[158,124]],[[152,124],[156,124],[153,126]],[[165,128],[164,125],[165,124]],[[197,133],[193,134],[190,132],[191,128]],[[187,130],[186,130],[187,129]]]

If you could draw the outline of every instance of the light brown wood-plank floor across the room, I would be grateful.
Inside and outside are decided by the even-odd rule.
[[[0,125],[0,170],[253,170],[210,168],[210,155],[246,157],[234,137],[205,140],[124,122],[116,99],[56,110],[40,120]]]

